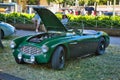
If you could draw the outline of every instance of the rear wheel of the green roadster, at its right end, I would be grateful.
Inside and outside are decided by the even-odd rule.
[[[105,53],[105,39],[103,37],[100,38],[96,54],[102,55]]]

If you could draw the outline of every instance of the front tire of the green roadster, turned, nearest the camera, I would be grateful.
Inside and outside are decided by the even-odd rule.
[[[56,48],[53,53],[51,65],[53,69],[63,69],[65,65],[65,52],[62,46]]]

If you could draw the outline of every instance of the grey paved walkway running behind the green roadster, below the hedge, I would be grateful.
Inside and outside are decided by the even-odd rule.
[[[26,36],[26,35],[34,35],[37,34],[35,31],[27,31],[27,30],[16,30],[17,36]],[[120,45],[120,37],[110,37],[110,44]]]

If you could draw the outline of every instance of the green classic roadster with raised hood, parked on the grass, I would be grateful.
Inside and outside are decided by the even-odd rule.
[[[48,9],[36,7],[47,32],[19,37],[11,42],[13,56],[18,64],[51,63],[53,69],[62,69],[65,60],[87,54],[104,54],[109,36],[102,31],[68,30]]]

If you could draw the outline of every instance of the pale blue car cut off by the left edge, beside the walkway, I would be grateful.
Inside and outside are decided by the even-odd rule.
[[[15,33],[15,27],[0,21],[0,30],[1,30],[1,38],[4,38],[6,36],[10,36]]]

